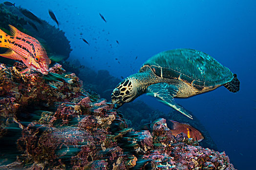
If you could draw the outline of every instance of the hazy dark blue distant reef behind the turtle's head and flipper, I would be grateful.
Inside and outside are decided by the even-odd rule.
[[[98,72],[82,66],[79,60],[73,60],[71,62],[64,62],[64,68],[67,71],[75,71],[80,80],[83,80],[84,88],[87,91],[96,91],[102,98],[107,101],[111,101],[111,93],[113,88],[121,82],[121,79],[116,78],[109,74],[107,70],[98,70]],[[189,119],[186,116],[182,116],[180,112],[170,107],[170,113],[163,113],[159,110],[151,108],[147,103],[142,101],[130,102],[124,104],[119,110],[124,115],[128,127],[133,129],[145,129],[148,124],[155,119],[164,118],[167,120],[175,120],[178,122],[186,122],[198,129],[205,139],[200,142],[200,146],[217,150],[217,146],[211,138],[209,132],[205,129],[202,123],[193,115],[193,119]],[[171,121],[167,121],[168,127],[172,126]]]

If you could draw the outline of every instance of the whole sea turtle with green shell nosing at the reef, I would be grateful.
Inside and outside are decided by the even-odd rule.
[[[118,108],[147,92],[192,119],[173,97],[186,98],[221,85],[235,93],[240,82],[236,74],[210,55],[192,49],[175,49],[149,58],[138,73],[128,76],[115,87],[111,99]]]

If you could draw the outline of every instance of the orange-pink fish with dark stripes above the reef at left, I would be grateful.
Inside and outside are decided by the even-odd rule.
[[[48,74],[48,65],[51,63],[51,60],[48,58],[40,42],[32,36],[20,32],[12,25],[9,25],[9,27],[11,35],[0,30],[0,47],[9,49],[5,53],[0,54],[0,56],[21,60],[28,67],[21,71],[21,73],[32,69],[42,74]]]

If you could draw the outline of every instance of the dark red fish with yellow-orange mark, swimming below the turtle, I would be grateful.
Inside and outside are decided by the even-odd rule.
[[[180,133],[187,134],[189,138],[193,138],[194,141],[200,142],[204,139],[204,136],[194,127],[187,123],[179,123],[177,121],[170,120],[173,125],[171,129],[171,134],[177,136]]]

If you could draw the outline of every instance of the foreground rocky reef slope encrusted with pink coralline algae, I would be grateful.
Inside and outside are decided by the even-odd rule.
[[[20,74],[21,68],[0,65],[0,136],[17,124],[21,152],[0,169],[234,170],[224,152],[172,136],[166,119],[149,130],[128,128],[112,103],[86,92],[61,65],[47,76]]]

